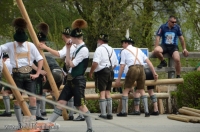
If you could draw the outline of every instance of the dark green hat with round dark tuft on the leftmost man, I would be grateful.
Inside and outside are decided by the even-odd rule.
[[[27,28],[27,23],[23,18],[16,18],[13,21],[13,26],[15,27],[15,34],[13,38],[17,42],[25,42],[28,40],[28,36],[25,33],[25,29]]]

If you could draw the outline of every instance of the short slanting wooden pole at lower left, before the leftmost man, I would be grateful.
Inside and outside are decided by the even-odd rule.
[[[8,81],[8,83],[10,83],[10,85],[12,85],[13,87],[17,88],[12,76],[10,75],[10,72],[8,71],[8,68],[6,67],[6,65],[3,62],[3,75],[6,78],[6,80]],[[16,90],[16,89],[12,89],[12,93],[14,94],[15,98],[17,99],[17,102],[19,103],[23,113],[25,116],[31,116],[31,113],[24,101],[24,98],[22,98],[21,93]]]

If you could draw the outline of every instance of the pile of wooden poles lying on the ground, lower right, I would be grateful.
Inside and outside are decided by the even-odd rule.
[[[189,107],[182,107],[178,111],[179,114],[168,115],[167,118],[182,122],[200,123],[200,110]]]

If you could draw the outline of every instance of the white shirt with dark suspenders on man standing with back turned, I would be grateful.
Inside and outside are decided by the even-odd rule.
[[[112,56],[111,56],[111,54],[112,54]],[[96,51],[94,52],[93,62],[98,63],[98,66],[94,70],[94,72],[100,71],[105,67],[110,67],[111,64],[110,64],[109,57],[110,57],[112,66],[113,67],[117,66],[118,65],[118,59],[117,59],[117,55],[116,55],[115,51],[113,50],[113,48],[110,47],[108,44],[100,45],[96,49]]]

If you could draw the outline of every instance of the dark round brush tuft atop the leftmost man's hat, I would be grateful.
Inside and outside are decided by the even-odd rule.
[[[16,18],[13,21],[13,26],[15,27],[15,30],[24,31],[24,29],[27,28],[27,23],[23,18]]]

